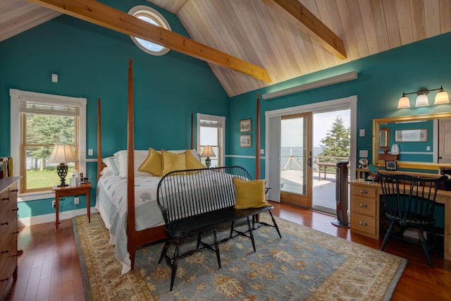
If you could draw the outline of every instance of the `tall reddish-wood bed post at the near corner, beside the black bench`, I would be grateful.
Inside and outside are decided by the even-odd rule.
[[[131,269],[135,267],[135,133],[133,120],[133,61],[128,61],[128,125],[127,125],[127,237]]]

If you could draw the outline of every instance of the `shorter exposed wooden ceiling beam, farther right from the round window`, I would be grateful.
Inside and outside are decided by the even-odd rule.
[[[303,32],[313,37],[322,47],[330,51],[339,59],[347,59],[342,39],[335,35],[324,23],[316,18],[298,0],[261,0],[280,13],[291,23],[295,23]]]

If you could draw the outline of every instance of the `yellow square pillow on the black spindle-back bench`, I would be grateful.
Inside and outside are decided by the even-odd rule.
[[[235,209],[270,206],[265,197],[266,180],[240,180],[233,178]]]

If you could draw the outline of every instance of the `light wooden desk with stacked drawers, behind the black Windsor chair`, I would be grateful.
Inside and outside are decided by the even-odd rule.
[[[352,180],[351,231],[379,239],[382,206],[380,183]],[[446,260],[451,260],[451,191],[438,190],[435,202],[445,204],[444,247]]]

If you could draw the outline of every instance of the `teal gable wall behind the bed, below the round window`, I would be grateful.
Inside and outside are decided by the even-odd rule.
[[[147,1],[102,1],[128,11]],[[177,16],[163,14],[172,30],[189,36]],[[9,156],[9,90],[87,98],[87,149],[97,158],[97,98],[101,98],[102,156],[125,149],[127,143],[128,60],[133,60],[135,148],[190,148],[191,111],[226,116],[228,96],[208,64],[169,51],[152,56],[128,37],[70,16],[59,16],[0,42],[0,156]],[[57,73],[58,83],[51,82]],[[194,117],[195,122],[195,117]],[[86,174],[96,183],[97,165]],[[95,204],[95,189],[91,190]],[[67,197],[66,203],[72,202]],[[50,199],[22,202],[20,217],[51,214]],[[80,197],[77,208],[85,207]],[[65,206],[64,210],[73,209]]]

